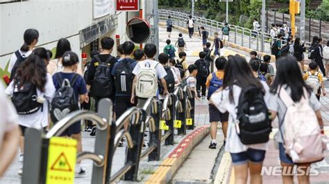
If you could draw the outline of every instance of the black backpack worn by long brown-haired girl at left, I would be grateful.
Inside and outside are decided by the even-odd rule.
[[[14,93],[12,93],[11,100],[17,114],[24,115],[39,111],[43,104],[37,102],[37,86],[32,82],[24,82],[20,88],[19,86],[19,79],[15,78]]]

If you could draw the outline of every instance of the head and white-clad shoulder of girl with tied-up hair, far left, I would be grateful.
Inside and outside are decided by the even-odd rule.
[[[19,52],[19,55],[21,55],[22,57],[28,57],[29,55],[31,55],[33,48],[35,48],[35,45],[37,44],[37,39],[39,39],[39,32],[37,32],[37,30],[35,29],[25,30],[24,44],[19,50],[17,50]],[[12,72],[12,68],[14,68],[16,61],[17,61],[17,53],[15,52],[12,54],[8,66],[8,71],[10,73]]]

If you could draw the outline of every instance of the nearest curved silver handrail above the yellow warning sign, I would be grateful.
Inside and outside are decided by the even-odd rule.
[[[98,128],[101,130],[107,129],[108,127],[108,121],[105,118],[97,116],[92,111],[74,111],[57,122],[56,125],[54,125],[53,128],[49,130],[45,138],[60,136],[65,131],[65,129],[80,120],[91,120],[96,122],[96,125],[98,125]]]

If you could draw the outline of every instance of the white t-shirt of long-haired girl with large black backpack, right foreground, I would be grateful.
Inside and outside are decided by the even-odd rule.
[[[266,82],[262,81],[262,86],[265,90],[264,101],[269,102],[269,86],[267,86]],[[229,100],[229,89],[223,89],[222,91],[215,92],[211,95],[210,101],[214,104],[221,113],[225,113],[228,111],[230,116],[228,117],[228,131],[227,131],[227,142],[225,145],[225,150],[232,153],[237,154],[243,151],[246,151],[248,148],[266,150],[267,143],[255,144],[255,145],[244,145],[242,144],[239,136],[237,135],[237,131],[235,129],[235,121],[233,120],[237,118],[236,107],[239,102],[239,96],[241,94],[241,88],[237,85],[233,86],[233,99],[235,103],[230,102]]]

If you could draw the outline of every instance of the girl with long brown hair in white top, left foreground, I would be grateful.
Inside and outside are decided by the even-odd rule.
[[[35,127],[37,129],[44,129],[48,125],[49,104],[53,98],[56,89],[53,86],[51,75],[47,73],[44,59],[37,55],[30,55],[24,63],[17,69],[17,77],[10,82],[6,89],[6,94],[12,96],[17,84],[24,84],[24,82],[31,82],[37,87],[37,102],[42,103],[42,107],[35,113],[19,115],[18,124],[22,130],[22,137],[19,141],[21,148],[21,156],[19,160],[23,160],[24,154],[24,131],[27,127]]]

